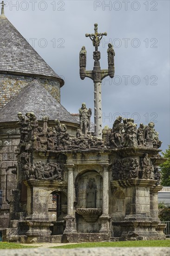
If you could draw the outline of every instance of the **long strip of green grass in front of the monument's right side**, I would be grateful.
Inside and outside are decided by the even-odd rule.
[[[62,246],[55,246],[51,248],[85,248],[85,247],[170,247],[170,240],[149,240],[149,241],[125,241],[125,242],[99,242],[99,243],[78,243],[68,244]]]

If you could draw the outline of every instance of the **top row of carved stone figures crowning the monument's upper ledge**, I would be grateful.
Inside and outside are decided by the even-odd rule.
[[[55,126],[48,127],[48,117],[43,117],[43,128],[39,127],[36,116],[33,112],[26,113],[26,117],[21,112],[18,113],[18,124],[20,125],[20,143],[29,142],[35,149],[47,150],[71,150],[90,148],[124,148],[124,147],[149,147],[159,148],[162,141],[159,141],[158,133],[154,129],[154,123],[147,126],[134,124],[133,119],[122,119],[118,116],[114,121],[112,129],[103,130],[103,138],[92,136],[87,129],[90,127],[91,108],[87,109],[85,103],[79,109],[80,129],[77,130],[76,137],[70,138],[65,124],[56,119]],[[123,122],[122,122],[123,121]]]

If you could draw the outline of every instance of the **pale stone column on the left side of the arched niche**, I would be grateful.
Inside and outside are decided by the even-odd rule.
[[[65,164],[65,167],[68,169],[68,190],[67,190],[67,216],[65,216],[66,227],[64,230],[65,233],[77,233],[77,230],[74,227],[74,178],[73,178],[73,169],[74,164]]]

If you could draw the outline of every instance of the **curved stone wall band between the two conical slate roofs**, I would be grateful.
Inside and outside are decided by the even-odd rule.
[[[12,100],[30,81],[38,79],[40,83],[60,102],[60,84],[57,79],[18,74],[0,74],[0,108]]]

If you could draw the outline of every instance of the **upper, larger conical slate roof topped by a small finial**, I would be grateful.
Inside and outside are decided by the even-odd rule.
[[[0,71],[59,78],[7,17],[0,15]],[[64,81],[61,79],[61,85]]]

